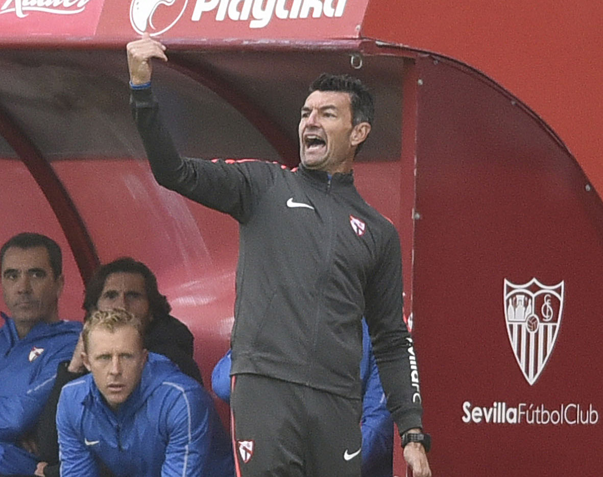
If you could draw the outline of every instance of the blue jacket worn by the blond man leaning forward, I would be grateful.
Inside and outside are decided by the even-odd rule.
[[[66,384],[57,430],[62,477],[98,476],[98,461],[116,477],[234,475],[232,446],[212,398],[155,353],[116,412],[92,374]]]

